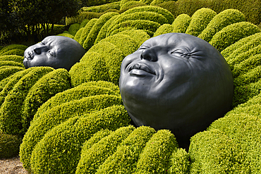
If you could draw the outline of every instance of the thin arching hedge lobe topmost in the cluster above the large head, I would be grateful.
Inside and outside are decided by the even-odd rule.
[[[130,13],[135,13],[135,12],[142,12],[142,11],[150,11],[150,12],[154,12],[154,13],[159,13],[168,20],[169,24],[173,23],[173,21],[174,21],[174,16],[169,11],[167,11],[164,8],[161,8],[159,6],[139,6],[139,7],[131,8],[128,11],[125,11],[124,13],[122,13],[121,15],[126,15],[126,14],[130,14]]]

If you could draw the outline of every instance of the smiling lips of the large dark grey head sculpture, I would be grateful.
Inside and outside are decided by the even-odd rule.
[[[135,63],[131,65],[128,68],[128,72],[130,72],[131,75],[146,75],[147,73],[156,75],[156,72],[144,63]]]

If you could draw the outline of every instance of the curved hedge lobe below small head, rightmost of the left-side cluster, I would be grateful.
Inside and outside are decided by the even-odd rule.
[[[25,98],[22,111],[22,123],[25,133],[28,130],[30,121],[40,108],[48,99],[59,92],[71,88],[70,75],[66,69],[59,68],[53,70],[47,75],[44,75],[33,85]]]

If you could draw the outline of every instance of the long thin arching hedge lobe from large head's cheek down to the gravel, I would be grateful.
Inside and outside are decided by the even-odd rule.
[[[85,113],[99,111],[102,108],[114,105],[121,105],[121,98],[115,95],[103,94],[72,100],[51,107],[42,114],[40,113],[37,118],[32,121],[20,147],[20,160],[23,161],[23,166],[30,169],[32,150],[48,130],[63,123],[68,120],[68,118],[83,116]]]

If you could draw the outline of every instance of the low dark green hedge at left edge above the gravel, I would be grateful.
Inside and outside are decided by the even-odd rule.
[[[18,156],[22,139],[17,135],[0,132],[0,159],[11,159]]]

